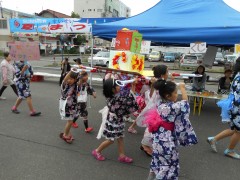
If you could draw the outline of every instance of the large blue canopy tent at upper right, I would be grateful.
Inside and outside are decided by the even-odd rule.
[[[93,35],[110,40],[122,28],[161,44],[233,45],[240,42],[240,12],[223,0],[161,0],[131,18],[93,25]]]

